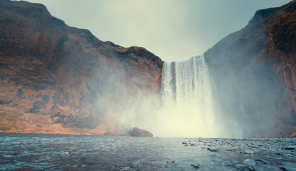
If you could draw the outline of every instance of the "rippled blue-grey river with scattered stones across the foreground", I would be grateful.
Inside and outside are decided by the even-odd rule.
[[[296,170],[295,139],[0,134],[0,170]]]

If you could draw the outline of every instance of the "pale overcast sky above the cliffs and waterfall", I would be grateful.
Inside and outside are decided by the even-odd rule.
[[[101,41],[142,46],[162,61],[184,61],[248,24],[258,9],[290,0],[28,0]]]

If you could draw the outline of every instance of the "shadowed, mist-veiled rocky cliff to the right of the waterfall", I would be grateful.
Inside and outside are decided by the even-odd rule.
[[[296,131],[295,9],[291,1],[259,10],[245,28],[204,54],[216,109],[238,123],[245,136]]]

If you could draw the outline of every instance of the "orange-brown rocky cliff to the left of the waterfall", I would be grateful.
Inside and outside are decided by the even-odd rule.
[[[67,26],[41,4],[1,0],[0,131],[122,133],[118,106],[159,95],[162,65],[144,48]]]

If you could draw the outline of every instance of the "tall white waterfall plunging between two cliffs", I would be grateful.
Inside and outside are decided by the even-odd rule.
[[[164,63],[159,136],[221,137],[203,56]]]

